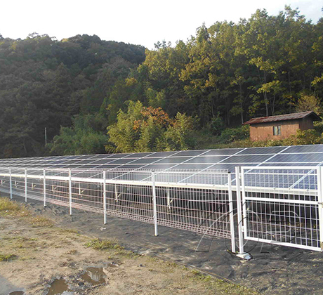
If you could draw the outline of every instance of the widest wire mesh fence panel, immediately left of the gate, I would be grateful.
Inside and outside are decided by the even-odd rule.
[[[159,225],[230,238],[228,190],[157,187]]]

